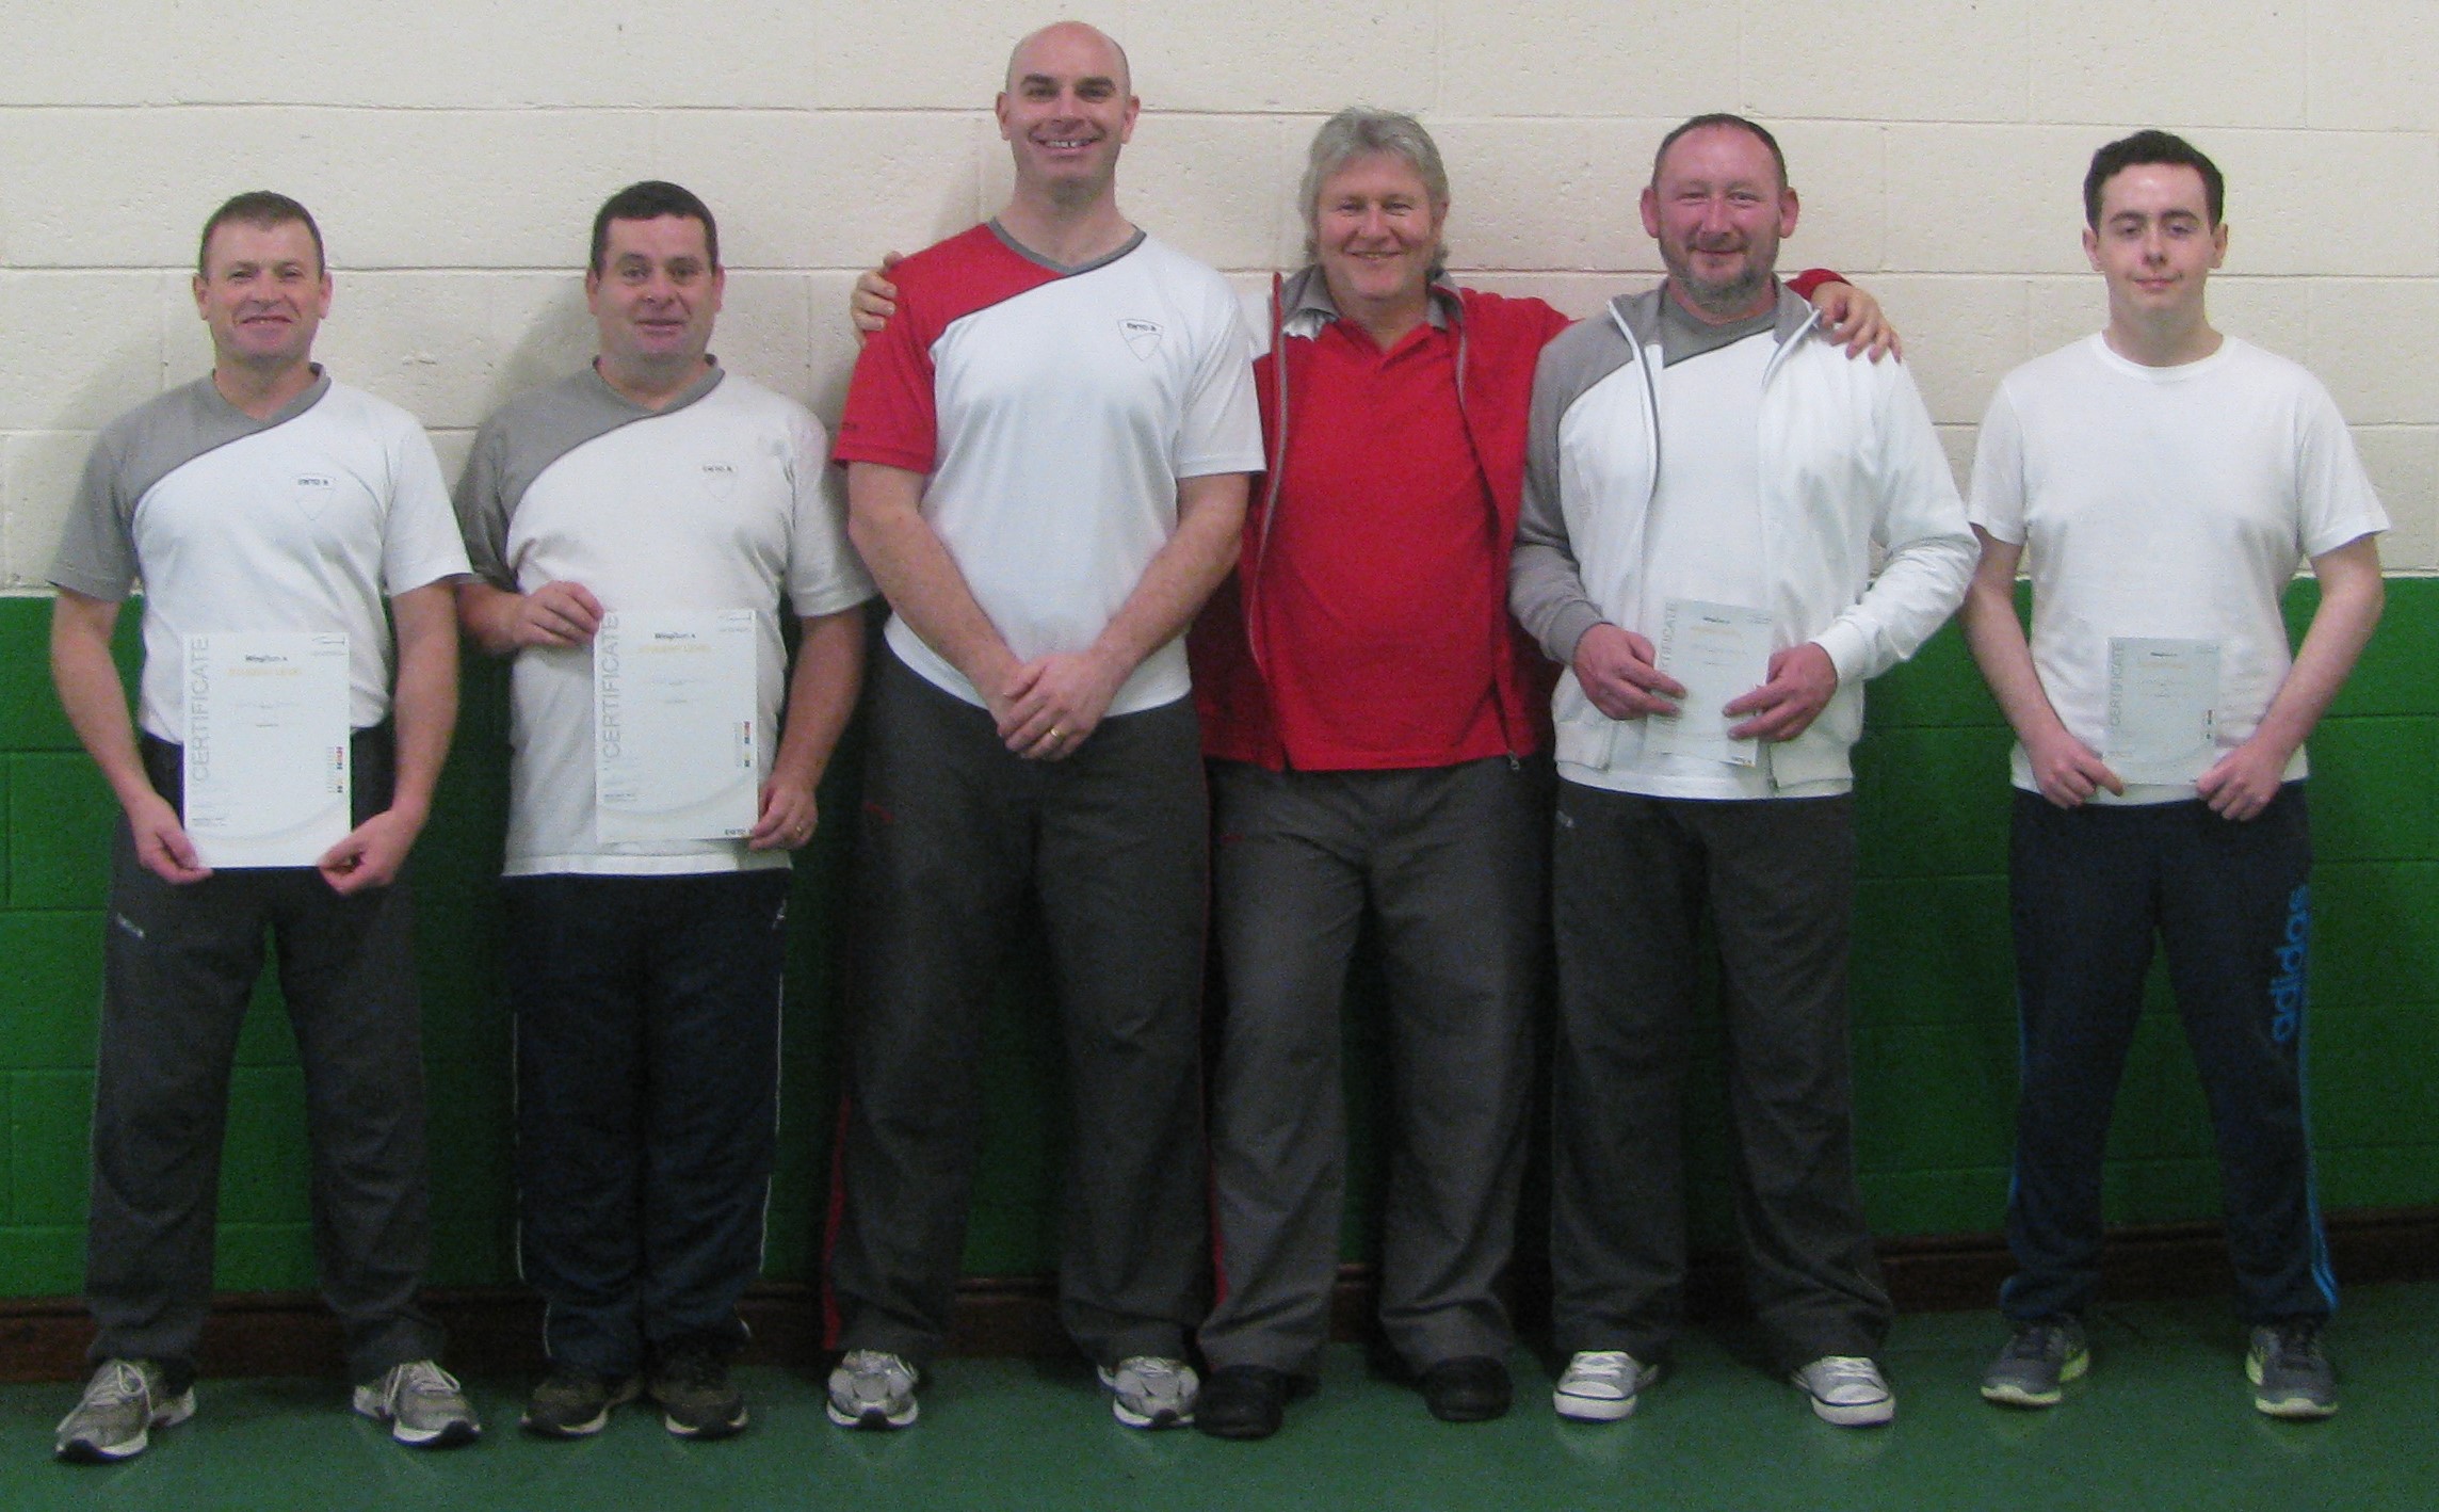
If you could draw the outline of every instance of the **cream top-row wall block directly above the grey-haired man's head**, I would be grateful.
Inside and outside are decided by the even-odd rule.
[[[1259,22],[1234,5],[1139,5],[1120,39],[1146,110],[1427,110],[1439,83],[1439,27],[1419,5],[1307,0]]]

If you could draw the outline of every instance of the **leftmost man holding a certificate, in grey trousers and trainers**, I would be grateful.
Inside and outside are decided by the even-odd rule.
[[[415,1446],[480,1432],[415,1307],[429,1193],[400,875],[456,724],[466,554],[415,417],[315,366],[329,298],[302,205],[222,205],[195,271],[212,373],[100,434],[51,568],[59,700],[124,810],[93,1097],[98,1368],[59,1424],[68,1461],[129,1458],[195,1412],[229,1066],[266,929],[356,1412]],[[110,634],[137,580],[132,722]]]

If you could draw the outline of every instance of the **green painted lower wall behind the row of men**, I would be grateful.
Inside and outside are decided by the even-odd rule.
[[[2310,615],[2312,588],[2290,595]],[[129,617],[132,619],[132,617]],[[85,1117],[100,995],[112,802],[78,754],[44,671],[49,602],[0,600],[0,1295],[76,1293]],[[124,637],[122,637],[124,641]],[[466,715],[417,854],[424,1046],[432,1078],[437,1283],[498,1283],[510,1256],[507,1017],[490,873],[505,805],[505,678],[468,663]],[[1883,1234],[1988,1232],[2007,1185],[2015,1010],[2005,922],[2005,727],[1954,629],[1871,690],[1859,751],[1863,890],[1854,949],[1863,1188]],[[2329,1210],[2439,1202],[2439,580],[2390,583],[2388,619],[2312,744],[2312,1093]],[[788,978],[783,1156],[768,1273],[810,1278],[837,1097],[837,958],[856,751],[822,795],[832,827],[798,868]],[[993,1027],[990,1119],[966,1266],[1051,1266],[1063,1095],[1041,963],[1017,961]],[[1368,997],[1359,971],[1359,997]],[[1373,1041],[1371,1015],[1349,1036]],[[312,1285],[302,1097],[276,990],[241,1044],[222,1168],[220,1283]],[[1361,1058],[1361,1056],[1359,1056]],[[1361,1066],[1356,1129],[1371,1127]],[[1695,1100],[1705,1132],[1719,1097]],[[1724,1234],[1719,1139],[1698,1227]],[[1359,1151],[1349,1249],[1368,1246]],[[2117,1222],[2207,1217],[2217,1173],[2200,1090],[2154,983],[2119,1100]]]

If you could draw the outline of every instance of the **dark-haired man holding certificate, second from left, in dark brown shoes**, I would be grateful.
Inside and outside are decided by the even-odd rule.
[[[702,200],[612,195],[595,361],[493,415],[459,483],[459,615],[515,656],[500,900],[544,1436],[641,1390],[678,1436],[746,1424],[727,1361],[776,1163],[788,851],[863,671],[827,437],[710,358],[722,285]]]

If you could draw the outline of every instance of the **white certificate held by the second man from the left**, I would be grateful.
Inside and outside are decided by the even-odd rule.
[[[754,829],[754,610],[602,615],[593,637],[593,824],[602,841]]]

